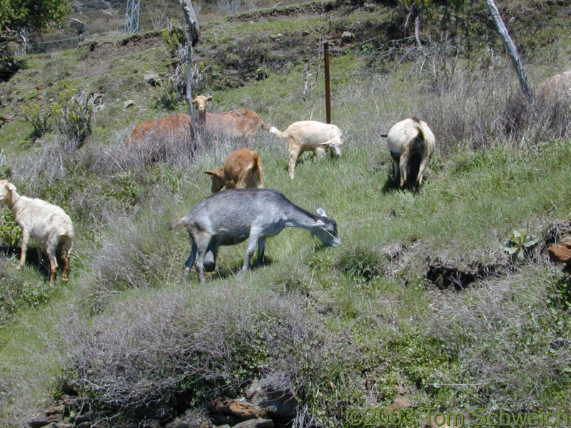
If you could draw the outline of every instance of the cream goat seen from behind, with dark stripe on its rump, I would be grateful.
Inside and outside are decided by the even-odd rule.
[[[387,134],[387,146],[393,158],[394,178],[399,180],[400,188],[405,187],[406,180],[418,158],[418,174],[415,177],[416,188],[423,184],[423,175],[435,147],[435,138],[428,125],[417,118],[408,118],[395,123]]]

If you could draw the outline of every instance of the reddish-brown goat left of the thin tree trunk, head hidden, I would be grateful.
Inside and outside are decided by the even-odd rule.
[[[138,123],[128,136],[126,144],[136,144],[148,138],[164,140],[166,138],[188,141],[192,145],[191,116],[188,114],[173,114],[161,119]]]

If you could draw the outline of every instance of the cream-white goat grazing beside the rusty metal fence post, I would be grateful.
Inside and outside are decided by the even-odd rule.
[[[326,151],[335,156],[341,156],[343,131],[335,125],[318,121],[299,121],[292,123],[283,132],[272,126],[270,132],[288,141],[290,178],[293,178],[295,163],[304,151],[315,152],[318,159],[323,158]]]

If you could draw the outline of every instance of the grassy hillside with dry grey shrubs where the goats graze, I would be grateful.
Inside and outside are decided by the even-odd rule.
[[[502,7],[532,86],[571,68],[565,4]],[[246,244],[223,247],[203,285],[194,272],[183,280],[188,234],[166,224],[210,193],[203,171],[243,142],[201,141],[192,158],[165,141],[154,162],[148,146],[125,146],[136,123],[186,111],[173,93],[176,31],[26,57],[0,85],[0,178],[63,207],[76,243],[69,283],[50,287],[35,251],[14,269],[19,228],[0,207],[0,424],[25,427],[71,394],[69,422],[164,426],[262,377],[295,389],[293,427],[364,426],[350,409],[398,396],[415,427],[429,408],[467,425],[475,409],[570,414],[571,282],[545,250],[571,234],[571,112],[522,105],[478,8],[427,9],[424,51],[404,12],[381,2],[278,6],[202,26],[195,93],[282,130],[325,120],[318,58],[329,39],[345,139],[340,158],[302,156],[294,180],[285,141],[261,133],[251,146],[266,187],[323,207],[343,245],[283,230],[267,241],[268,263],[245,274]],[[317,80],[304,101],[307,73]],[[78,91],[101,96],[76,147],[56,119]],[[437,140],[419,193],[395,187],[380,136],[410,116]],[[522,260],[502,250],[514,230],[537,238]]]

